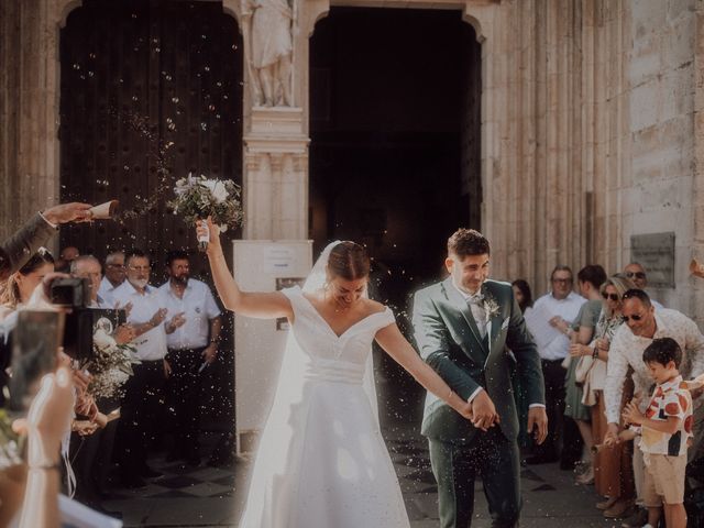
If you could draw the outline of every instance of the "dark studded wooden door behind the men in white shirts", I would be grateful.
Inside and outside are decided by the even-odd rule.
[[[101,261],[140,248],[151,283],[172,249],[191,251],[191,275],[211,284],[194,229],[170,215],[188,173],[242,182],[242,40],[221,2],[85,0],[61,31],[61,199],[120,200],[118,222],[61,232]],[[239,232],[227,233],[239,238]],[[231,260],[229,252],[226,252]],[[231,321],[202,396],[205,428],[231,429]],[[229,330],[228,330],[229,329]]]

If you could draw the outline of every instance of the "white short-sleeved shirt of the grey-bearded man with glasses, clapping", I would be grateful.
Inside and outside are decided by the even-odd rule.
[[[129,280],[125,280],[116,288],[113,299],[120,302],[120,306],[132,302],[132,310],[130,310],[130,316],[128,317],[128,322],[132,324],[148,322],[158,309],[166,308],[158,289],[147,285],[144,295],[142,295]],[[164,330],[164,322],[144,332],[142,336],[134,338],[132,344],[136,346],[136,356],[140,360],[163,360],[166,355],[166,331]]]

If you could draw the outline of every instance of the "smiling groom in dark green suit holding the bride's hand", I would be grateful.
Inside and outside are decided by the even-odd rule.
[[[460,397],[466,420],[428,393],[421,433],[430,443],[441,528],[471,526],[474,479],[481,475],[493,527],[518,525],[521,498],[518,416],[510,373],[517,369],[530,408],[528,430],[548,432],[540,359],[507,283],[487,280],[488,241],[458,230],[448,240],[450,277],[419,290],[414,328],[420,355]]]

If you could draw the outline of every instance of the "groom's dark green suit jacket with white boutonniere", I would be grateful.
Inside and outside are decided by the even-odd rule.
[[[510,372],[517,367],[529,404],[544,404],[540,358],[510,284],[486,280],[482,292],[485,306],[494,305],[484,339],[451,278],[416,293],[413,318],[416,342],[422,359],[460,397],[468,399],[483,387],[494,402],[503,433],[514,440],[518,435],[518,415]],[[422,435],[441,441],[470,441],[477,430],[428,393]]]

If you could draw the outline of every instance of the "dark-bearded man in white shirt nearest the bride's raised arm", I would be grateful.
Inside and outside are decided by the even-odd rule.
[[[170,460],[198,465],[199,374],[216,360],[220,339],[220,309],[210,288],[190,278],[188,253],[173,251],[166,257],[169,279],[160,287],[167,317],[185,322],[166,337],[170,366],[168,397],[174,413],[174,449]]]

